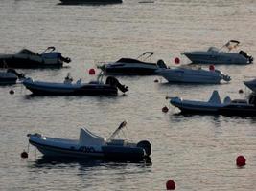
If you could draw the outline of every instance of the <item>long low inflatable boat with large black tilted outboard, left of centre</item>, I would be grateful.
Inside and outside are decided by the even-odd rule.
[[[128,87],[120,84],[115,77],[108,76],[105,83],[102,78],[99,79],[100,77],[89,83],[82,83],[81,79],[73,83],[69,74],[63,82],[36,81],[26,78],[23,85],[36,96],[117,96],[118,89],[123,93],[128,91]]]

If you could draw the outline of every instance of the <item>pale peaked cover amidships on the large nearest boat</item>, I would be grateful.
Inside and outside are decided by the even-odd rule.
[[[102,146],[105,144],[105,138],[96,136],[93,133],[91,133],[89,130],[85,128],[81,128],[79,144]]]

